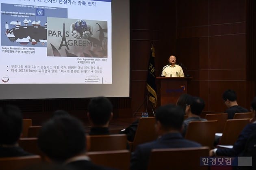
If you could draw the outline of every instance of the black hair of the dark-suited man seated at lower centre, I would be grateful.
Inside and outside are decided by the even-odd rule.
[[[159,121],[165,129],[177,129],[182,128],[184,120],[184,111],[179,106],[168,104],[160,106],[156,110],[156,121]]]

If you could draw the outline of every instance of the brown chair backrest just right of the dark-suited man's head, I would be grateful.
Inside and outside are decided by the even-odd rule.
[[[217,121],[189,122],[185,138],[213,148]]]

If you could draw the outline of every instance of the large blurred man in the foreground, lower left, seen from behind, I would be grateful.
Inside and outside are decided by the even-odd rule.
[[[82,123],[72,116],[59,116],[46,122],[38,136],[38,146],[46,160],[65,164],[74,170],[105,170],[86,155],[86,138]]]

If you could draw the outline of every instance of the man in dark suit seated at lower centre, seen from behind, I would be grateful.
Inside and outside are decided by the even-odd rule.
[[[165,105],[158,108],[158,110],[156,110],[155,127],[159,137],[155,141],[137,146],[135,152],[131,156],[130,169],[146,170],[152,149],[201,146],[197,142],[185,140],[182,137],[180,132],[182,130],[183,119],[184,111],[180,107],[175,105]]]

